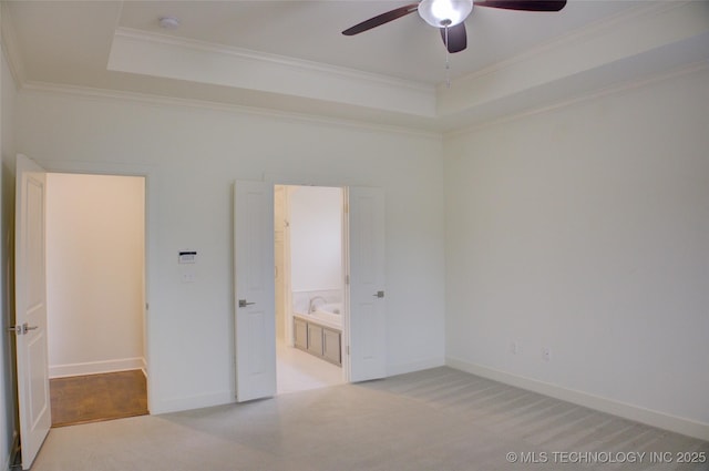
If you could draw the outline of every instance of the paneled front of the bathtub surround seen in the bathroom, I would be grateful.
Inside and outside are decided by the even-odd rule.
[[[328,327],[308,315],[296,315],[292,319],[295,347],[342,366],[342,331]]]

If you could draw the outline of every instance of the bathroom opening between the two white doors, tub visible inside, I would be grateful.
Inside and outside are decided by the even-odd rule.
[[[343,206],[340,187],[274,188],[279,395],[346,382]],[[329,356],[323,341],[330,341]]]

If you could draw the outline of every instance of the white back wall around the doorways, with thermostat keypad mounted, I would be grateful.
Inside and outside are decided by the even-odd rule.
[[[388,371],[443,364],[440,137],[23,90],[17,147],[49,170],[147,174],[151,411],[234,398],[232,188],[265,174],[384,188]],[[193,284],[181,279],[184,248],[198,252]]]

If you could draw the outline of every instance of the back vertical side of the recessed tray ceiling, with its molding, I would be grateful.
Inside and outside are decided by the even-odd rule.
[[[125,28],[114,34],[107,69],[435,116],[433,85]]]

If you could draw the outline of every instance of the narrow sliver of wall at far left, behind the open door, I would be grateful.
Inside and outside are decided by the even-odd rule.
[[[2,332],[6,327],[14,322],[14,281],[11,272],[13,265],[12,239],[14,215],[14,110],[17,90],[4,55],[1,52],[0,69],[0,207],[2,219],[0,221],[0,309]],[[7,469],[10,460],[10,450],[17,432],[14,419],[16,382],[13,380],[14,357],[12,355],[13,342],[11,336],[0,336],[0,465]]]

